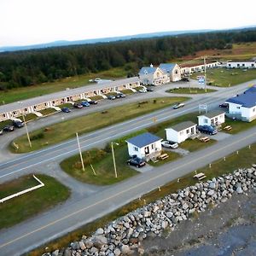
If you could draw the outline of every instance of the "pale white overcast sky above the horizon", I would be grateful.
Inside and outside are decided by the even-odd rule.
[[[0,47],[256,25],[255,0],[0,0]]]

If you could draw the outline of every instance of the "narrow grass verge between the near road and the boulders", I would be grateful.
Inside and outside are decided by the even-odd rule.
[[[218,177],[225,173],[230,173],[235,171],[237,168],[249,167],[253,163],[255,163],[256,158],[256,144],[251,146],[251,149],[242,148],[239,150],[239,154],[230,154],[226,157],[226,161],[217,160],[212,163],[212,168],[208,166],[201,168],[201,170],[197,170],[197,172],[204,172],[207,175],[207,178]],[[194,185],[197,183],[197,180],[193,178],[195,172],[190,172],[189,174],[180,178],[180,181],[177,180],[172,181],[171,183],[166,183],[166,185],[160,187],[159,189],[155,189],[148,193],[147,195],[143,195],[142,200],[131,201],[131,203],[125,205],[124,207],[119,208],[118,210],[109,213],[108,215],[96,219],[96,221],[91,222],[90,224],[84,225],[79,230],[74,230],[69,233],[67,236],[62,236],[61,238],[52,241],[44,247],[40,247],[31,253],[29,256],[38,256],[43,253],[54,251],[55,249],[61,247],[67,247],[71,241],[79,241],[81,236],[90,236],[93,232],[96,231],[97,228],[104,227],[109,222],[114,219],[120,218],[127,214],[128,212],[132,212],[136,210],[138,207],[143,207],[144,201],[146,203],[150,203],[152,201],[156,201],[165,195],[170,195],[171,193],[177,192],[178,189],[184,189],[190,185]],[[45,249],[47,247],[47,249]]]

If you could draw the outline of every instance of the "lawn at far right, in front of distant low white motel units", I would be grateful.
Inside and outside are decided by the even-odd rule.
[[[191,78],[196,79],[200,73],[194,73]],[[234,86],[256,79],[256,69],[242,71],[240,68],[212,68],[207,69],[207,84],[219,87]]]

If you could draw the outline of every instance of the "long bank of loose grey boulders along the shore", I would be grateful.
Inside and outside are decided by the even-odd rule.
[[[69,247],[44,253],[44,256],[119,256],[137,251],[143,254],[140,241],[148,236],[160,236],[162,231],[189,218],[194,212],[203,212],[209,205],[227,201],[232,194],[248,189],[256,191],[256,166],[239,169],[233,174],[214,177],[205,183],[196,183],[177,193],[130,212],[122,218],[96,230],[90,237],[83,236]]]

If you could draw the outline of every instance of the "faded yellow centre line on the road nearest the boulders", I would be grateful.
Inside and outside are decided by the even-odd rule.
[[[223,148],[218,148],[217,150],[212,151],[211,153],[204,154],[204,155],[202,155],[201,157],[198,157],[198,158],[196,158],[196,159],[194,159],[194,160],[190,160],[188,163],[184,163],[184,164],[181,165],[181,166],[177,166],[177,167],[173,168],[172,170],[168,170],[168,171],[162,172],[162,173],[160,173],[159,175],[154,176],[154,177],[151,177],[151,178],[149,178],[148,180],[146,180],[146,181],[144,181],[144,182],[142,182],[142,183],[139,183],[139,184],[136,184],[136,185],[134,185],[134,186],[131,186],[131,187],[129,187],[128,189],[119,191],[118,193],[116,193],[116,194],[114,194],[114,195],[111,195],[111,196],[109,196],[109,197],[107,197],[107,198],[105,198],[105,199],[103,199],[103,200],[97,201],[96,203],[93,203],[93,204],[91,204],[91,205],[88,206],[88,207],[84,207],[84,208],[79,209],[79,210],[76,211],[76,212],[72,212],[72,213],[70,213],[70,214],[67,214],[67,215],[64,216],[64,217],[59,218],[59,219],[56,219],[55,221],[50,222],[49,224],[46,224],[46,225],[44,225],[44,226],[42,226],[42,227],[40,227],[40,228],[38,228],[38,229],[36,229],[36,230],[32,230],[31,232],[28,232],[28,233],[26,233],[26,234],[23,235],[23,236],[16,237],[16,238],[15,238],[14,240],[12,240],[12,241],[8,241],[8,242],[3,243],[2,245],[0,245],[0,248],[6,247],[6,246],[8,246],[9,244],[11,244],[11,243],[13,243],[13,242],[15,242],[15,241],[19,241],[19,240],[21,240],[22,238],[24,238],[24,237],[26,237],[26,236],[30,236],[30,235],[32,235],[32,234],[38,232],[38,231],[44,230],[44,229],[46,229],[46,228],[49,227],[49,226],[52,226],[52,225],[54,225],[54,224],[56,224],[56,223],[61,222],[62,220],[65,220],[65,219],[67,219],[67,218],[72,217],[73,215],[77,215],[79,212],[84,212],[85,210],[90,209],[91,207],[95,207],[95,206],[101,204],[102,202],[109,201],[109,200],[111,200],[111,199],[113,199],[113,198],[115,198],[115,197],[118,197],[119,195],[125,194],[126,192],[128,192],[128,191],[130,191],[130,190],[132,190],[132,189],[136,189],[137,187],[141,187],[142,185],[144,185],[144,184],[146,184],[146,183],[149,183],[149,182],[151,182],[151,181],[154,181],[154,180],[156,180],[156,179],[158,179],[158,178],[160,178],[160,177],[163,177],[163,176],[169,174],[170,172],[174,172],[174,171],[176,171],[176,170],[178,170],[178,169],[180,169],[180,168],[183,168],[184,166],[190,166],[191,164],[193,164],[194,162],[197,162],[198,160],[202,160],[202,159],[204,159],[204,158],[207,158],[208,156],[211,156],[212,154],[216,154],[216,153],[218,153],[219,151],[224,150],[225,148],[230,148],[230,146],[235,145],[235,144],[237,144],[237,143],[240,143],[241,141],[247,140],[249,137],[254,137],[255,134],[256,134],[256,132],[253,132],[253,134],[250,134],[250,135],[248,135],[247,137],[243,137],[243,138],[241,138],[240,140],[237,140],[237,141],[234,142],[234,143],[230,143],[229,145],[226,145],[226,146],[224,146]]]

